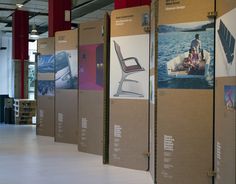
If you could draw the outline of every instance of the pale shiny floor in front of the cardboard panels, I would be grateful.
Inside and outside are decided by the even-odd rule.
[[[35,135],[35,126],[0,124],[0,184],[152,184],[148,172],[102,164],[76,145]]]

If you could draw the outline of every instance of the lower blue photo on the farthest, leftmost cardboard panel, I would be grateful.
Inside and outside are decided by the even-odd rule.
[[[54,96],[55,83],[50,80],[38,81],[38,96]]]

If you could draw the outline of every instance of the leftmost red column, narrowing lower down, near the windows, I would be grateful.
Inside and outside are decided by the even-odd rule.
[[[29,12],[16,10],[12,24],[12,58],[21,62],[20,97],[24,98],[24,61],[28,60]]]

